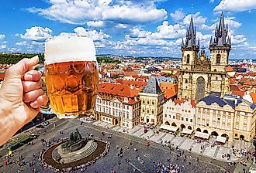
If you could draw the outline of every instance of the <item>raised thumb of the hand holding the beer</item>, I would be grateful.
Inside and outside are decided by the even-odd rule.
[[[16,65],[12,66],[8,73],[6,74],[9,77],[16,77],[22,78],[23,74],[29,70],[33,70],[33,67],[39,62],[38,56],[34,56],[31,59],[22,59]]]

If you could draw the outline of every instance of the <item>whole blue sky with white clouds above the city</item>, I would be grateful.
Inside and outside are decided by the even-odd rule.
[[[191,15],[208,47],[223,8],[230,59],[256,59],[255,0],[5,0],[0,52],[43,53],[46,39],[77,33],[94,39],[97,54],[180,57]]]

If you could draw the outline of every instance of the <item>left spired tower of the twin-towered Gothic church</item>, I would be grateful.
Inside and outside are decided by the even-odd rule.
[[[182,69],[192,70],[192,66],[199,53],[199,42],[196,45],[196,31],[194,28],[193,18],[191,16],[189,29],[185,37],[185,43],[182,39]]]

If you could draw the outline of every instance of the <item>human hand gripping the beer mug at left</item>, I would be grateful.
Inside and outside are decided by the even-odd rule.
[[[8,138],[33,120],[40,107],[48,101],[41,89],[41,74],[33,70],[38,62],[38,56],[22,59],[5,74],[0,89],[0,125],[8,126]],[[1,144],[2,135],[0,136]]]

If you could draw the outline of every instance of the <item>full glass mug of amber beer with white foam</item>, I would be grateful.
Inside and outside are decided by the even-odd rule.
[[[57,36],[45,43],[45,80],[50,107],[59,118],[92,115],[99,70],[92,39]]]

